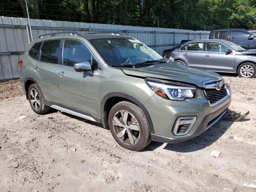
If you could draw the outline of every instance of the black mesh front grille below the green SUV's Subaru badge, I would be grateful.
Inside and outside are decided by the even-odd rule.
[[[216,89],[206,89],[205,92],[206,97],[211,105],[223,99],[227,95],[227,90],[224,84],[219,91],[217,91]]]

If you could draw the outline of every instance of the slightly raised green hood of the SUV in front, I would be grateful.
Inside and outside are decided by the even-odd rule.
[[[222,79],[217,73],[190,68],[175,62],[159,63],[140,68],[121,68],[121,70],[128,76],[160,78],[194,84],[198,87],[203,87],[205,81]]]

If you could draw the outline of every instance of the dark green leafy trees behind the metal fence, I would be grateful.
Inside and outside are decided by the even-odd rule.
[[[0,15],[26,17],[25,0]],[[31,18],[191,30],[256,28],[256,0],[28,0]]]

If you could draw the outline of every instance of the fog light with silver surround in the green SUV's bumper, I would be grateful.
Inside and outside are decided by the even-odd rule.
[[[188,134],[195,122],[195,116],[184,116],[177,118],[173,128],[174,135],[181,136]]]

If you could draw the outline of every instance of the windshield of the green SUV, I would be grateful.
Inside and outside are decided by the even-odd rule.
[[[104,38],[90,40],[102,58],[110,66],[139,65],[165,62],[154,50],[132,38]]]

